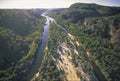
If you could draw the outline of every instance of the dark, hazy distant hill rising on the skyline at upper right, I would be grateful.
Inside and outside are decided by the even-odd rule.
[[[120,13],[120,7],[108,7],[97,4],[75,3],[68,9],[53,10],[55,16],[60,17],[70,23],[79,23],[84,18],[106,17]],[[49,13],[50,14],[50,13]]]

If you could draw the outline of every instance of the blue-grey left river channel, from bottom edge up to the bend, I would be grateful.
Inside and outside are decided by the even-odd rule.
[[[31,78],[38,72],[42,58],[44,56],[43,51],[45,49],[46,42],[47,42],[48,35],[49,35],[50,19],[47,16],[45,16],[44,13],[42,14],[42,16],[45,17],[47,21],[44,24],[44,29],[43,29],[44,31],[42,33],[42,41],[40,45],[38,46],[38,51],[36,52],[35,61],[30,68],[30,72],[27,75],[27,81],[30,81]]]

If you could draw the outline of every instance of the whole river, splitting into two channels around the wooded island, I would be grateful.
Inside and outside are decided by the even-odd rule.
[[[46,18],[46,22],[44,24],[44,31],[43,31],[43,34],[42,34],[42,41],[38,47],[38,51],[37,51],[37,54],[36,54],[36,58],[35,58],[35,61],[34,61],[34,64],[32,65],[31,67],[31,71],[29,72],[28,74],[28,81],[31,80],[31,78],[38,72],[38,69],[40,67],[40,64],[41,64],[41,61],[42,61],[42,58],[43,58],[43,51],[45,49],[45,46],[46,46],[46,42],[47,42],[47,39],[48,39],[48,35],[49,35],[49,26],[50,26],[50,23],[53,22],[55,23],[56,25],[58,25],[60,28],[62,28],[64,30],[64,32],[66,33],[66,35],[68,35],[68,31],[65,29],[65,27],[63,27],[62,25],[59,25],[57,24],[57,22],[45,15],[46,13],[43,13],[41,16],[45,17]],[[86,54],[85,54],[86,55]],[[89,57],[86,55],[86,59],[88,61],[90,61]],[[104,78],[103,74],[101,73],[101,71],[99,70],[99,68],[97,68],[96,64],[93,63],[93,62],[90,62],[93,69],[94,69],[94,74],[96,75],[97,79],[99,81],[106,81],[106,79]]]

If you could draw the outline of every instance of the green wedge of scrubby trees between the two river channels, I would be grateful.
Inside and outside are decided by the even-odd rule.
[[[63,43],[67,45],[66,49],[68,51],[61,47]],[[78,48],[75,42],[73,42],[68,37],[68,35],[64,32],[62,28],[52,23],[50,25],[50,32],[47,45],[44,50],[44,59],[41,63],[39,72],[37,73],[39,74],[39,76],[33,77],[32,81],[63,81],[67,79],[68,73],[66,73],[66,71],[69,72],[71,70],[67,69],[67,67],[64,67],[68,64],[65,64],[67,62],[65,62],[65,58],[64,60],[61,58],[62,55],[58,53],[58,50],[66,51],[65,53],[63,53],[63,55],[72,58],[67,59],[69,60],[68,64],[73,64],[74,67],[72,69],[76,70],[77,68],[82,68],[81,71],[78,70],[76,73],[81,80],[87,80],[87,78],[89,78],[90,80],[96,80],[92,66],[84,55],[86,53],[86,51],[84,51],[84,48]],[[75,50],[79,53],[76,54]],[[63,65],[61,67],[65,68],[64,70],[58,68],[59,61],[61,61]],[[81,73],[85,73],[85,75],[82,75]]]

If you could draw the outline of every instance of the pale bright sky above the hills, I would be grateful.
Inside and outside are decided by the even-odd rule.
[[[1,0],[0,9],[55,9],[69,8],[74,3],[120,7],[119,0]]]

